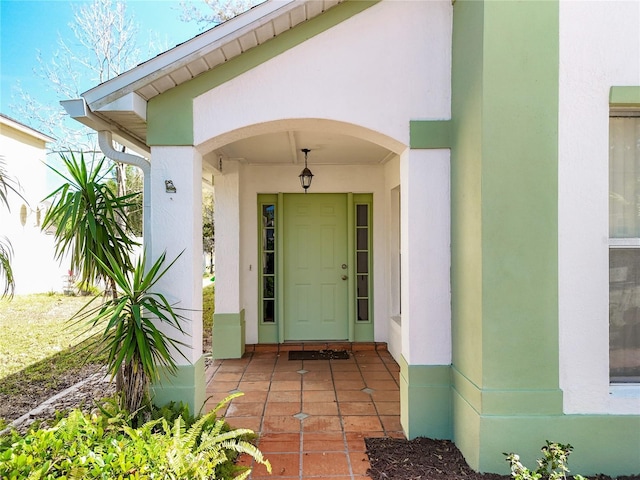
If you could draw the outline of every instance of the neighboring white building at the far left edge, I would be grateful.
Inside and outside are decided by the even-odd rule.
[[[67,268],[54,258],[54,238],[40,229],[47,204],[46,144],[54,140],[0,115],[0,156],[18,182],[20,198],[8,196],[10,211],[0,208],[0,236],[11,242],[15,294],[61,292]]]

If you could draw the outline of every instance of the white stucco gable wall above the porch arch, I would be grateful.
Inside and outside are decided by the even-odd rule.
[[[247,125],[316,118],[377,132],[372,141],[393,139],[385,146],[400,153],[410,119],[450,117],[451,25],[450,0],[376,4],[196,98],[195,143],[216,148]]]

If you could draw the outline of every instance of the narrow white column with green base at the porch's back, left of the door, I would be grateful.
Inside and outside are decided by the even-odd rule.
[[[240,171],[226,161],[214,178],[216,225],[216,306],[213,358],[244,354],[245,322],[240,297]]]

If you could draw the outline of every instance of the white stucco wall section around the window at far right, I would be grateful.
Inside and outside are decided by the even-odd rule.
[[[640,85],[640,2],[560,2],[559,328],[566,413],[640,413],[609,386],[611,86]]]

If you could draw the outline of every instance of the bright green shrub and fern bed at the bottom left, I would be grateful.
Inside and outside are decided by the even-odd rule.
[[[181,416],[172,422],[162,417],[134,428],[124,411],[86,414],[74,410],[54,427],[31,430],[24,436],[14,432],[10,442],[3,442],[0,478],[245,479],[251,470],[232,465],[232,459],[241,453],[271,471],[269,461],[244,440],[253,434],[251,430],[230,430],[224,418],[216,417],[235,396],[227,397],[190,427]]]

